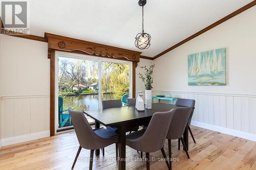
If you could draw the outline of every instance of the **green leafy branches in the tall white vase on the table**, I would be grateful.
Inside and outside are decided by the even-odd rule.
[[[140,68],[144,68],[145,72],[143,74],[139,73],[139,78],[142,80],[142,82],[145,85],[146,90],[152,90],[152,83],[153,83],[153,69],[155,67],[155,64],[151,65],[150,68],[147,68],[146,66],[141,66]]]

